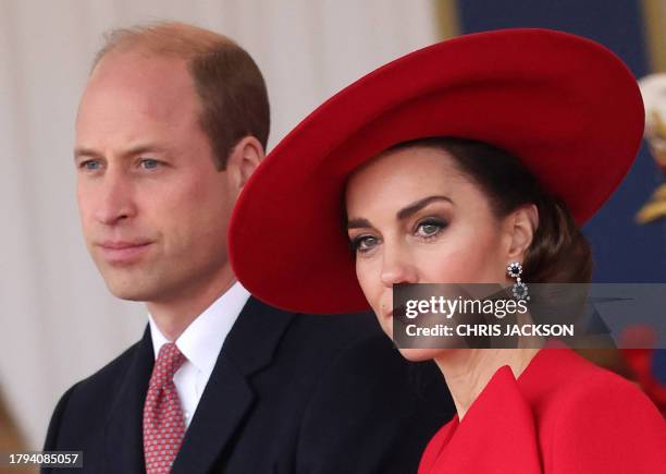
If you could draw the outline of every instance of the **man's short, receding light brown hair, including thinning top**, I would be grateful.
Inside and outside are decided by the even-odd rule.
[[[270,130],[268,93],[259,68],[226,36],[184,23],[155,23],[113,29],[92,70],[110,52],[181,58],[201,102],[199,123],[208,136],[215,167],[223,170],[233,147],[255,136],[266,149]]]

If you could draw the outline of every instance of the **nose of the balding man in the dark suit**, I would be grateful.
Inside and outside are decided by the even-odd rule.
[[[108,170],[97,191],[100,193],[95,209],[98,222],[113,226],[136,215],[132,183],[122,170]]]

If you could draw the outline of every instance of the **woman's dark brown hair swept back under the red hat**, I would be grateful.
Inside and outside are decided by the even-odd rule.
[[[547,193],[522,162],[509,153],[482,142],[432,137],[404,142],[391,150],[435,148],[451,155],[457,168],[489,197],[502,218],[526,204],[539,210],[539,227],[526,253],[523,279],[532,283],[588,283],[592,252],[566,204]]]

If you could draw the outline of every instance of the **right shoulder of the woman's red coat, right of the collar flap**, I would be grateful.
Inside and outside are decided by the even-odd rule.
[[[554,390],[550,446],[543,446],[551,473],[656,473],[666,471],[666,422],[652,401],[629,380],[580,358]],[[574,361],[571,361],[574,362]],[[545,417],[542,420],[545,424]],[[548,436],[540,429],[540,436]],[[542,442],[542,445],[545,445]]]

